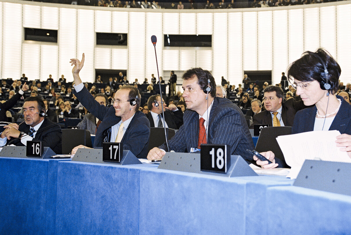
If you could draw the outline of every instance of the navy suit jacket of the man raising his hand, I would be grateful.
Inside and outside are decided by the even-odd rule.
[[[73,91],[73,93],[87,110],[101,120],[95,135],[94,147],[102,147],[102,142],[110,141],[111,126],[119,123],[121,117],[115,116],[113,106],[100,105],[85,87],[80,92]],[[144,113],[137,111],[123,135],[121,144],[124,150],[130,150],[136,157],[146,158],[149,137],[150,122]]]

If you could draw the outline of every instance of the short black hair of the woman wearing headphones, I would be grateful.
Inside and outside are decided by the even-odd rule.
[[[287,79],[291,83],[294,79],[299,81],[316,80],[321,83],[322,80],[325,80],[323,63],[328,70],[328,83],[331,85],[330,92],[335,94],[339,86],[341,68],[329,52],[322,48],[319,48],[316,52],[306,51],[300,59],[291,63],[287,70]]]

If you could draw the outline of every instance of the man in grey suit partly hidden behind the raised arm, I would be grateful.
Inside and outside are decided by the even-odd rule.
[[[101,93],[95,95],[95,100],[99,102],[100,105],[106,106],[108,104],[107,96]],[[90,134],[95,135],[100,123],[101,120],[96,118],[92,113],[88,113],[84,115],[83,120],[80,123],[78,123],[77,126],[79,126],[80,129],[88,130],[90,131]]]

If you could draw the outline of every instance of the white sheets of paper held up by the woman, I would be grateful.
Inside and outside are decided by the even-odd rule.
[[[305,159],[318,159],[331,162],[348,162],[351,158],[347,152],[336,146],[339,131],[310,131],[294,135],[278,136],[277,142],[284,154],[285,162],[291,167],[286,176],[296,179]]]

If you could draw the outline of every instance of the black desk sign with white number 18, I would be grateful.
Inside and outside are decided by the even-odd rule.
[[[230,152],[226,144],[201,144],[200,169],[226,173],[230,167]]]

